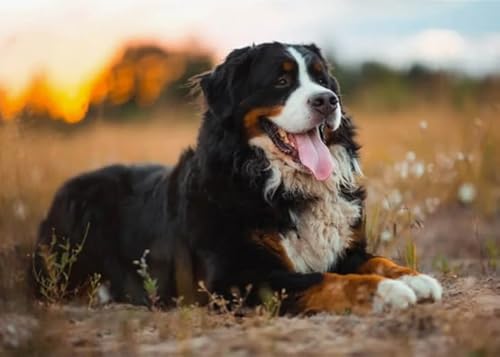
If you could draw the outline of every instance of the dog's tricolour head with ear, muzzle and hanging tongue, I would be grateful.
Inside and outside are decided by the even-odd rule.
[[[209,110],[241,140],[326,180],[327,132],[341,124],[336,80],[314,45],[269,43],[233,51],[200,81]]]

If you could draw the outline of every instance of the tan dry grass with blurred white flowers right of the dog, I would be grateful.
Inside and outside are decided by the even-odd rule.
[[[469,116],[434,109],[358,116],[369,192],[368,237],[373,249],[387,255],[399,250],[406,262],[417,260],[413,242],[436,213],[467,211],[475,220],[468,222],[471,227],[495,221],[500,213],[499,112]],[[436,257],[437,251],[426,255]]]

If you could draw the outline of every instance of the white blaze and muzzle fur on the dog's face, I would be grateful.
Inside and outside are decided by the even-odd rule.
[[[277,116],[272,117],[272,120],[289,133],[301,133],[310,130],[312,125],[309,98],[319,93],[336,94],[312,80],[303,54],[293,47],[288,47],[287,51],[297,63],[298,85],[286,100],[283,110]],[[340,125],[340,118],[341,109],[340,105],[337,105],[334,113],[334,129]]]

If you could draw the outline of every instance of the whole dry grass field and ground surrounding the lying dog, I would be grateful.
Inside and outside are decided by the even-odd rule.
[[[0,353],[498,355],[500,108],[351,112],[363,145],[370,245],[436,275],[445,286],[442,303],[403,314],[295,318],[200,307],[42,306],[26,291],[25,271],[57,187],[114,162],[173,164],[195,144],[198,121],[172,111],[78,130],[9,122],[0,125]]]

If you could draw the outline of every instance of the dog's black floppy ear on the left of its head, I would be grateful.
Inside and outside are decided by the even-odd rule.
[[[250,52],[251,47],[236,49],[213,71],[194,78],[205,97],[208,110],[214,115],[229,117],[242,100],[243,79],[248,76]]]

